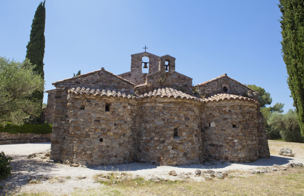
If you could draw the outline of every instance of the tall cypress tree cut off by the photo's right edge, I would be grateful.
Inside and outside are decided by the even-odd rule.
[[[282,12],[281,44],[288,73],[287,83],[304,136],[304,2],[303,0],[279,0],[279,8]]]

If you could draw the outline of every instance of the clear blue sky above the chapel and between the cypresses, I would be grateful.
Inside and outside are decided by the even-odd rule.
[[[0,56],[25,59],[41,0],[0,1]],[[73,73],[130,71],[131,54],[176,59],[199,84],[223,73],[293,108],[281,56],[278,0],[47,0],[45,90]],[[47,94],[44,96],[47,102]],[[272,105],[273,105],[272,104]]]

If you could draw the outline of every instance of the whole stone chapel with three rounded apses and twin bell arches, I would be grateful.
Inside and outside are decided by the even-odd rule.
[[[258,93],[227,74],[192,86],[170,55],[132,54],[130,72],[101,68],[52,85],[46,121],[56,161],[175,166],[270,157]]]

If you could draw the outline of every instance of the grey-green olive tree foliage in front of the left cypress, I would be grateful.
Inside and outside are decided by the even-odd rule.
[[[0,57],[0,125],[21,125],[40,115],[40,100],[29,97],[44,90],[44,80],[33,69],[28,60],[21,63]]]

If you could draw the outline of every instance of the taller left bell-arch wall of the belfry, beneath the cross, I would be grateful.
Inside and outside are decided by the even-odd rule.
[[[149,73],[143,73],[143,63],[142,59],[144,56],[149,57]],[[128,81],[134,83],[135,85],[145,83],[145,76],[150,73],[158,71],[158,58],[154,54],[149,52],[141,52],[131,55],[131,71],[127,73],[119,74],[118,76],[127,79]]]

